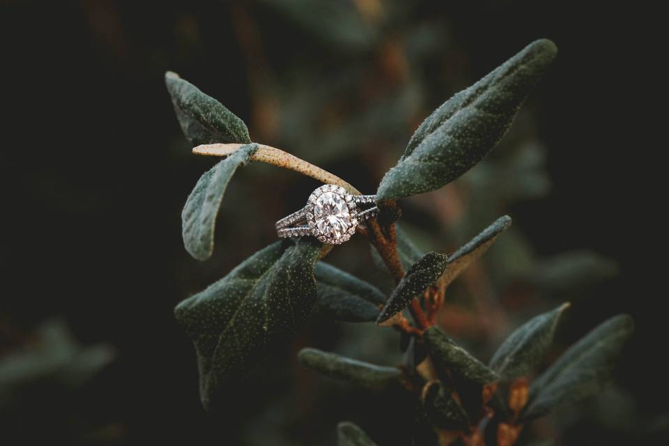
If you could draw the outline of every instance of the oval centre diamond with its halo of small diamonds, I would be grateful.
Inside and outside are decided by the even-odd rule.
[[[314,237],[322,243],[339,245],[355,233],[358,209],[344,187],[323,185],[309,196],[305,217]]]

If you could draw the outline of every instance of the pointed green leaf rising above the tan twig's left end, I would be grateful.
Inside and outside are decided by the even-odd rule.
[[[181,130],[193,146],[251,142],[244,121],[175,72],[165,73],[165,85]]]

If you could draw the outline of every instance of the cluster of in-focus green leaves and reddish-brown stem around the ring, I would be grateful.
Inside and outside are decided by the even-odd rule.
[[[316,309],[349,323],[376,321],[409,337],[405,365],[376,365],[304,348],[302,365],[372,391],[399,386],[415,397],[441,444],[494,430],[512,444],[523,425],[564,403],[601,390],[633,331],[629,316],[611,318],[544,364],[557,325],[569,307],[539,314],[512,332],[486,364],[435,324],[447,287],[511,225],[503,216],[451,254],[423,253],[395,226],[396,200],[451,183],[474,167],[512,125],[523,100],[553,61],[550,40],[525,47],[470,88],[456,93],[416,130],[397,164],[380,181],[378,205],[392,219],[370,220],[364,233],[377,263],[388,266],[394,289],[376,286],[321,259],[331,247],[309,237],[261,249],[175,309],[197,351],[203,406],[225,403],[224,391],[243,380],[275,346],[286,342]],[[254,158],[243,121],[217,100],[168,72],[176,116],[193,144],[237,144],[198,180],[183,209],[187,252],[205,261],[214,249],[215,221],[231,177]],[[406,273],[404,272],[406,270]],[[406,313],[414,319],[412,325]],[[359,427],[339,424],[340,445],[374,445]]]

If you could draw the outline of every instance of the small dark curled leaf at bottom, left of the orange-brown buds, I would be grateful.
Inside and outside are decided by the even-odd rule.
[[[440,429],[467,431],[469,417],[466,410],[453,397],[452,390],[438,381],[427,383],[422,392],[423,408],[430,422]]]

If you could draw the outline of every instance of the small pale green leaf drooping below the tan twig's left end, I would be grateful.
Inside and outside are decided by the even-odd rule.
[[[247,144],[218,162],[197,180],[181,212],[183,244],[195,259],[206,260],[214,251],[216,215],[223,194],[238,167],[249,162],[258,150]]]

